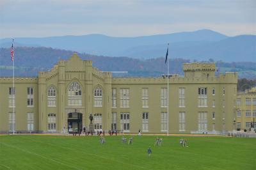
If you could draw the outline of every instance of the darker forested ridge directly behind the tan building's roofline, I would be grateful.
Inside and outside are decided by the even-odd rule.
[[[74,52],[46,47],[17,47],[15,48],[15,76],[38,76],[38,72],[51,70],[60,59],[67,60]],[[167,66],[164,58],[135,59],[127,57],[95,56],[91,54],[78,55],[82,59],[90,59],[93,66],[105,72],[124,72],[113,76],[129,77],[159,77],[166,73]],[[201,60],[200,60],[201,61]],[[212,59],[209,61],[213,62]],[[183,75],[183,63],[191,62],[189,59],[170,59],[170,73]],[[256,79],[256,62],[216,61],[216,66],[221,72],[238,72],[239,78]],[[12,76],[12,61],[10,48],[0,48],[0,77]]]

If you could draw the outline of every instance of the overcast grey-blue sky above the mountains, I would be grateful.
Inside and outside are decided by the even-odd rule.
[[[198,29],[256,35],[256,0],[0,0],[0,38],[143,36]]]

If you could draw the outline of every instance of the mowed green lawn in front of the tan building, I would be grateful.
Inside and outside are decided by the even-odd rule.
[[[256,169],[256,138],[164,136],[161,147],[156,136],[134,136],[132,145],[121,138],[0,135],[0,169]]]

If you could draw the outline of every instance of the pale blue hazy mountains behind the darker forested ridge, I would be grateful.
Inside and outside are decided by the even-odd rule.
[[[11,42],[11,38],[0,39],[0,47],[9,48]],[[256,62],[255,35],[226,36],[209,29],[131,38],[105,35],[15,38],[15,47],[52,47],[97,56],[137,59],[165,56],[167,43],[170,43],[170,58]]]

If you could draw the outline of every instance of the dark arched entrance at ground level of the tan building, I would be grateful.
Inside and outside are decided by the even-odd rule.
[[[81,112],[68,113],[68,132],[81,132],[83,130],[83,114]]]

